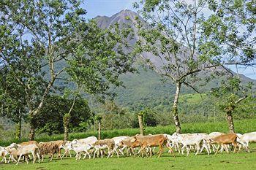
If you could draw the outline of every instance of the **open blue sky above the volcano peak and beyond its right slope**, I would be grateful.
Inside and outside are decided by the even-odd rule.
[[[97,15],[106,15],[110,17],[122,9],[133,9],[132,3],[138,0],[85,0],[83,8],[86,9],[87,18],[95,18]],[[235,66],[228,66],[234,72],[236,72]],[[244,74],[246,77],[250,77],[256,80],[256,68],[248,67],[244,68],[239,66],[238,72]]]

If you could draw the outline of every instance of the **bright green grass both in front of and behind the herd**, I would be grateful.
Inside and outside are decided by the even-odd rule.
[[[256,131],[256,120],[238,120],[235,121],[236,131],[238,133],[244,134],[250,131]],[[174,126],[158,126],[158,127],[148,127],[146,128],[146,134],[172,134],[175,131]],[[212,131],[222,131],[227,133],[227,123],[184,123],[182,124],[183,133],[195,133],[195,132],[206,132],[210,133]],[[135,135],[138,134],[138,129],[116,129],[113,131],[102,131],[102,139],[112,138],[114,136],[122,135]],[[70,139],[80,139],[87,136],[97,136],[96,132],[86,132],[86,133],[75,133],[70,134]],[[41,136],[37,138],[37,141],[49,141],[62,139],[62,135],[55,136]],[[25,139],[24,139],[25,140]],[[1,146],[7,146],[13,141],[1,141]],[[194,156],[190,154],[188,157],[184,155],[176,154],[176,157],[167,153],[162,155],[161,158],[157,158],[154,155],[153,158],[140,158],[140,157],[121,157],[121,158],[96,158],[95,160],[80,160],[75,161],[75,158],[64,158],[64,160],[54,159],[52,162],[45,159],[43,163],[35,163],[34,165],[29,163],[20,163],[20,165],[15,166],[13,163],[4,164],[0,163],[0,170],[51,170],[51,169],[69,169],[69,170],[79,170],[79,169],[256,169],[256,144],[250,144],[251,153],[240,152],[238,154],[227,154],[222,152],[218,155],[206,155],[202,153],[200,155]]]

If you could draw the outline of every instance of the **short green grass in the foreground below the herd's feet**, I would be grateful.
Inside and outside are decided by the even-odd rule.
[[[69,170],[80,170],[80,169],[90,169],[90,170],[121,170],[121,169],[256,169],[256,144],[250,144],[252,152],[239,152],[227,154],[222,152],[218,155],[206,155],[206,153],[201,153],[200,155],[190,154],[189,156],[170,155],[165,150],[162,157],[157,158],[154,155],[152,158],[141,158],[141,157],[120,157],[120,158],[109,158],[106,157],[95,158],[89,160],[79,160],[76,161],[75,158],[64,158],[64,160],[54,159],[52,162],[45,159],[43,163],[20,163],[18,166],[15,164],[3,164],[0,163],[1,170],[59,170],[59,169],[69,169]]]

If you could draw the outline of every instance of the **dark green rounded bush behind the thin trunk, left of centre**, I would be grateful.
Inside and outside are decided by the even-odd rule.
[[[65,121],[67,119],[69,119],[69,131],[80,131],[80,123],[91,119],[91,111],[86,99],[83,98],[77,98],[69,115],[67,112],[71,106],[72,99],[49,96],[45,102],[45,107],[36,119],[39,134],[62,134],[64,132],[63,125],[67,123]]]

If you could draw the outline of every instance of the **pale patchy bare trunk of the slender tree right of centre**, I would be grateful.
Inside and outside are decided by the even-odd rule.
[[[176,94],[173,101],[173,120],[176,125],[176,132],[181,133],[181,124],[178,120],[178,97],[181,92],[181,82],[176,82]]]

